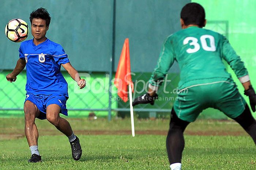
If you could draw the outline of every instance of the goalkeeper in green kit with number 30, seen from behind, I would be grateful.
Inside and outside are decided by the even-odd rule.
[[[133,106],[146,103],[154,105],[161,85],[159,82],[162,82],[174,61],[177,61],[180,67],[180,92],[171,112],[166,139],[171,170],[181,170],[185,128],[209,107],[237,121],[256,143],[256,121],[222,62],[222,59],[226,60],[236,73],[244,86],[244,94],[249,97],[251,109],[255,112],[255,91],[241,58],[223,35],[202,28],[206,19],[200,4],[185,5],[181,10],[180,21],[182,30],[167,37],[163,44],[148,93],[133,101]]]

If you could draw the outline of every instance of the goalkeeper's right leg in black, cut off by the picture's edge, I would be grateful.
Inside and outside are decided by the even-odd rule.
[[[251,111],[248,105],[245,106],[245,110],[240,116],[233,118],[237,121],[242,128],[252,137],[254,143],[256,144],[256,121],[252,117]]]

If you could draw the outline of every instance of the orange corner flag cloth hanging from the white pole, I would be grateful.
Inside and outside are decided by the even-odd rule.
[[[128,101],[128,89],[127,86],[131,85],[133,92],[133,82],[131,76],[131,64],[130,64],[130,51],[129,51],[129,39],[126,38],[124,46],[120,55],[114,85],[118,89],[118,96],[123,99],[124,102]]]

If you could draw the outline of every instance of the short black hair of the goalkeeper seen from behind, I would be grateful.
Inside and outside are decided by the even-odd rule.
[[[185,25],[196,24],[199,27],[204,27],[204,8],[197,3],[188,3],[182,8],[180,18],[183,19]]]

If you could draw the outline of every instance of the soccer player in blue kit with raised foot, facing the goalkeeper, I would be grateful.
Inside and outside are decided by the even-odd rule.
[[[61,65],[80,88],[86,86],[86,81],[81,79],[79,73],[72,67],[62,46],[45,37],[51,19],[48,11],[38,8],[31,12],[29,19],[34,38],[20,44],[16,67],[6,76],[8,81],[15,82],[16,76],[26,66],[27,93],[24,113],[25,135],[31,150],[29,162],[41,162],[35,118],[47,119],[64,133],[71,144],[72,157],[74,160],[79,160],[82,155],[79,138],[74,135],[69,122],[60,117],[60,113],[68,115],[66,109],[68,84],[60,72]]]

